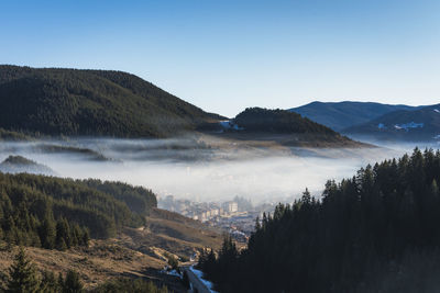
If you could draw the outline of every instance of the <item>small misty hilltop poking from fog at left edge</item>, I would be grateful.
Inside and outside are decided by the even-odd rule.
[[[0,164],[0,172],[4,173],[41,173],[55,174],[54,170],[22,156],[9,156]]]

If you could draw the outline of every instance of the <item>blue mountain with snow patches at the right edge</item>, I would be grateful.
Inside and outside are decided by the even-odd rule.
[[[393,140],[437,140],[440,138],[440,104],[395,111],[343,129],[343,133]]]

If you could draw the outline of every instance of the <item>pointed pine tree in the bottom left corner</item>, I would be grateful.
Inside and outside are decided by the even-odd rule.
[[[22,247],[15,256],[14,263],[9,269],[9,275],[7,292],[38,292],[35,266],[28,259]]]

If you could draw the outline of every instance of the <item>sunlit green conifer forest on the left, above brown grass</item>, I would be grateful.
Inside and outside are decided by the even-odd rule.
[[[144,225],[157,206],[143,188],[100,180],[72,180],[0,172],[0,239],[65,249],[108,238],[119,227]]]

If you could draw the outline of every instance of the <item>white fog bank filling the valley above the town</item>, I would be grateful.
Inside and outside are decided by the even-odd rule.
[[[61,177],[99,178],[191,201],[292,202],[329,179],[352,177],[367,164],[399,157],[415,144],[365,149],[218,147],[183,139],[74,139],[0,143],[0,160],[21,155]],[[425,147],[425,146],[424,146]],[[432,147],[432,146],[430,146]]]

